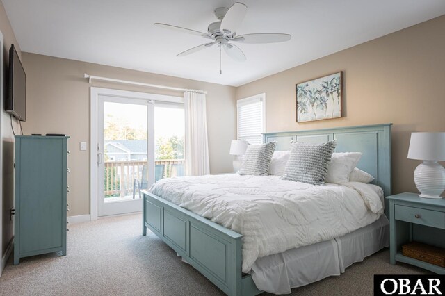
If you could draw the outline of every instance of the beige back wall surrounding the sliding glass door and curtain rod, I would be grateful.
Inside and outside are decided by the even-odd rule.
[[[68,164],[71,171],[68,175],[70,215],[90,213],[91,85],[83,78],[84,73],[177,88],[207,90],[210,170],[212,174],[232,170],[229,147],[230,141],[236,138],[235,88],[38,54],[23,53],[22,62],[26,71],[27,95],[24,133],[65,133],[71,137],[68,141]],[[182,96],[181,92],[116,83],[95,81],[92,85]],[[88,142],[88,151],[79,151],[81,141]]]

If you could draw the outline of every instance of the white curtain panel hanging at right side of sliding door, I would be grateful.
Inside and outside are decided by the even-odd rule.
[[[184,92],[186,117],[186,175],[210,174],[206,95]]]

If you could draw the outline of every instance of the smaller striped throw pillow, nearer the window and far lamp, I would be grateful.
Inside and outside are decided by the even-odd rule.
[[[243,156],[239,174],[265,176],[269,172],[270,159],[275,151],[275,142],[259,145],[249,145]]]

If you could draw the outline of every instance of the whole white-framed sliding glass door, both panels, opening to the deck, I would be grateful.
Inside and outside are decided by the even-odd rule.
[[[184,176],[184,104],[98,97],[97,214],[142,210],[140,190]]]

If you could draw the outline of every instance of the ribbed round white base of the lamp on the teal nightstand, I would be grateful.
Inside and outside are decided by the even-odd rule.
[[[423,161],[414,171],[419,197],[441,199],[445,190],[445,169],[437,161]]]

